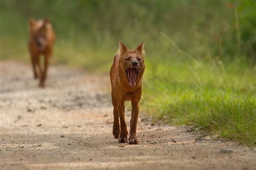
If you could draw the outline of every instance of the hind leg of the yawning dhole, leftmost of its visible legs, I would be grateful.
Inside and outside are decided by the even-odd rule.
[[[116,100],[116,98],[114,98],[112,93],[111,93],[111,97],[112,97],[112,104],[114,107],[114,110],[113,110],[113,114],[114,114],[113,136],[114,136],[114,138],[118,139],[119,134],[120,134],[120,124],[119,124],[117,100]]]

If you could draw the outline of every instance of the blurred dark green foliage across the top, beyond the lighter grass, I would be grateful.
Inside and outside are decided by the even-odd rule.
[[[132,47],[144,41],[152,56],[176,56],[176,50],[160,34],[164,33],[194,58],[246,56],[254,62],[255,4],[254,0],[2,0],[0,37],[26,38],[29,18],[49,17],[58,41],[69,41],[81,50],[116,50],[119,40]]]

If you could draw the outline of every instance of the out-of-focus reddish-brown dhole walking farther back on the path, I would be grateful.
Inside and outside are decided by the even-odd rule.
[[[45,87],[49,60],[55,43],[55,32],[48,18],[29,20],[29,52],[35,79],[40,79],[39,86]],[[40,65],[39,56],[44,55],[44,68]]]

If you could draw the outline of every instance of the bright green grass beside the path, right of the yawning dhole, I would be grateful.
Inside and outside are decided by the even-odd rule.
[[[198,126],[255,146],[255,67],[240,61],[147,62],[142,108],[155,121]]]

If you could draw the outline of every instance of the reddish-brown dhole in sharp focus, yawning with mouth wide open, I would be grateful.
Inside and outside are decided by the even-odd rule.
[[[140,44],[136,49],[130,51],[127,47],[119,42],[119,51],[114,56],[113,65],[110,70],[110,80],[112,87],[112,104],[114,107],[114,123],[113,123],[113,135],[115,138],[119,138],[118,143],[127,143],[127,128],[125,123],[124,102],[131,100],[132,113],[130,121],[130,137],[129,144],[139,144],[139,140],[136,136],[136,129],[139,115],[139,101],[142,97],[142,80],[145,70],[144,65],[144,44]],[[133,63],[137,62],[137,66],[133,66]],[[136,84],[131,77],[130,69],[134,69],[137,72]],[[130,74],[128,74],[128,72]],[[131,80],[130,80],[131,79]],[[120,119],[120,124],[119,124]]]

